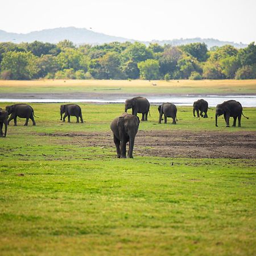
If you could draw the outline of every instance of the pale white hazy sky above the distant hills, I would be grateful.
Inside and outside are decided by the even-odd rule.
[[[256,0],[8,0],[0,30],[80,27],[129,39],[256,41]]]

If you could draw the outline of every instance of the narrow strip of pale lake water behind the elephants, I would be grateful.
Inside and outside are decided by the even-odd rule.
[[[0,96],[1,97],[1,96]],[[238,96],[146,96],[151,104],[162,104],[163,102],[171,102],[177,106],[191,106],[194,101],[203,98],[208,101],[209,106],[216,106],[224,101],[236,100],[239,101],[244,107],[256,107],[256,96],[255,95],[238,95]],[[62,102],[93,102],[98,104],[108,104],[108,103],[123,103],[127,98],[125,97],[115,97],[112,95],[102,96],[101,98],[0,98],[0,102],[38,102],[38,103],[62,103]]]

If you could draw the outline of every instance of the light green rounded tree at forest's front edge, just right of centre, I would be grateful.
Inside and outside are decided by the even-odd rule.
[[[148,59],[138,63],[142,79],[156,80],[160,78],[158,60]]]

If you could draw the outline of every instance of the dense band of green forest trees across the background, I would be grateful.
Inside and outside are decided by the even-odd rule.
[[[0,43],[1,79],[256,79],[256,46]]]

